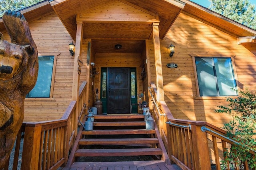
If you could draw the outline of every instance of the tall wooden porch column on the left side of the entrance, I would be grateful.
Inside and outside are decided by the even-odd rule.
[[[73,85],[72,85],[72,100],[76,101],[76,125],[78,124],[78,98],[79,98],[79,82],[80,82],[80,74],[78,74],[78,57],[81,56],[82,53],[82,40],[83,40],[83,30],[84,26],[81,22],[77,22],[76,28],[76,51],[74,55],[74,70],[73,70]]]

